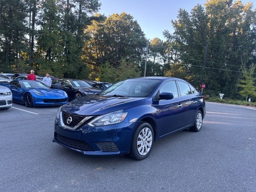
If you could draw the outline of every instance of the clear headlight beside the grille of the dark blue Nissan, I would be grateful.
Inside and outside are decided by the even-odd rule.
[[[95,127],[120,123],[124,120],[127,114],[128,112],[123,112],[123,110],[115,111],[95,118],[94,120],[90,121],[88,125]]]

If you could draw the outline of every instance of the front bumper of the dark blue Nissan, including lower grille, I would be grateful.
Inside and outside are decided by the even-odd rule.
[[[52,142],[86,155],[120,155],[130,152],[133,131],[134,123],[125,122],[100,127],[86,124],[76,130],[68,130],[56,120]]]

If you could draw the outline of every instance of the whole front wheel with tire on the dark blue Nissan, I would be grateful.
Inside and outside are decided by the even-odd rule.
[[[134,131],[129,156],[135,160],[143,160],[150,154],[154,142],[154,131],[147,122],[138,124]],[[149,148],[149,149],[148,149]]]

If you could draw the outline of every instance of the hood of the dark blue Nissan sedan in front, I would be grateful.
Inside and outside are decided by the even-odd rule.
[[[77,115],[102,115],[126,110],[143,104],[145,98],[90,95],[75,99],[62,107],[62,111]]]

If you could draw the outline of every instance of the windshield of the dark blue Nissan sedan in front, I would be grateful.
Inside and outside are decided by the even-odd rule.
[[[156,79],[128,79],[117,82],[100,95],[106,96],[127,96],[127,97],[147,97],[161,80]]]

